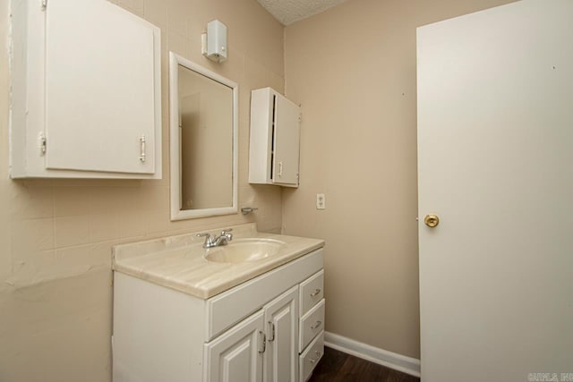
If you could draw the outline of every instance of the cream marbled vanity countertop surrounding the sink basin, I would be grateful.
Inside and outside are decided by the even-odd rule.
[[[197,237],[196,233],[185,233],[146,242],[115,245],[113,269],[208,299],[324,246],[324,241],[319,239],[260,233],[254,223],[225,228],[233,228],[236,239],[265,238],[286,244],[276,255],[268,258],[219,263],[204,258],[208,250],[202,248],[203,238]],[[203,232],[220,233],[220,229],[201,231]]]

